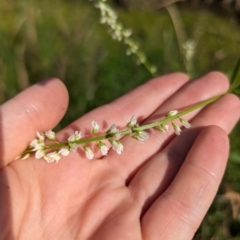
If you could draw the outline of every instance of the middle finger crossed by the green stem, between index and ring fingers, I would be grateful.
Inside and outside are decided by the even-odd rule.
[[[215,86],[215,87],[213,87]],[[209,90],[211,89],[211,91]],[[200,102],[204,99],[210,98],[217,94],[223,93],[228,89],[228,79],[221,73],[213,72],[199,79],[188,82],[173,96],[168,98],[160,107],[150,116],[149,119],[162,118],[168,111],[173,109],[181,109],[188,105]],[[188,114],[188,118],[192,118],[197,111]],[[149,121],[146,119],[146,121]],[[206,119],[206,122],[208,119]],[[160,134],[158,131],[149,131],[150,137],[144,143],[144,146],[139,146],[139,142],[131,139],[129,136],[121,139],[123,143],[124,151],[120,156],[111,156],[111,153],[107,156],[109,164],[116,168],[118,172],[124,178],[131,178],[132,175],[154,154],[162,149],[167,141],[172,138],[173,130],[168,133]]]

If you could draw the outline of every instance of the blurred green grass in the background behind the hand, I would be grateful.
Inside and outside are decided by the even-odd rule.
[[[176,32],[165,9],[115,9],[121,22],[133,29],[135,40],[157,66],[159,75],[183,71]],[[211,70],[230,76],[240,53],[239,25],[207,10],[180,8],[180,13],[181,31],[197,44],[191,76]],[[62,128],[151,78],[125,52],[125,47],[114,42],[106,27],[99,24],[99,13],[88,1],[3,0],[0,103],[35,82],[58,77],[70,94],[68,112],[58,126]],[[230,138],[230,161],[219,193],[226,191],[225,185],[240,193],[239,125]],[[195,239],[240,239],[240,233],[234,237],[225,226],[230,224],[230,220],[225,224],[227,206],[218,200],[213,203]]]

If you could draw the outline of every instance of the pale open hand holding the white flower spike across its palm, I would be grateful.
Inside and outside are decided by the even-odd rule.
[[[228,89],[218,72],[194,82],[181,73],[164,75],[61,130],[89,132],[92,120],[106,131],[124,127],[132,115],[140,123],[161,118]],[[80,87],[80,86],[79,86]],[[141,144],[121,139],[124,151],[104,158],[94,148],[88,160],[79,150],[58,163],[31,157],[14,160],[36,137],[64,116],[68,93],[50,79],[1,106],[0,238],[80,240],[192,239],[219,187],[226,168],[227,134],[239,120],[240,101],[228,94],[186,116],[191,129],[180,136],[149,131]],[[77,111],[77,109],[76,109]]]

